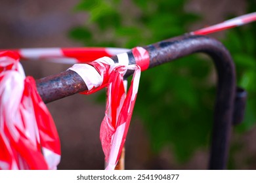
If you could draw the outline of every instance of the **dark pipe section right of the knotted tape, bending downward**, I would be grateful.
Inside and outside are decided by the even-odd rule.
[[[150,67],[196,52],[203,52],[213,59],[218,80],[209,169],[226,169],[236,91],[235,68],[228,50],[215,39],[191,35],[161,41],[145,48],[150,53]]]

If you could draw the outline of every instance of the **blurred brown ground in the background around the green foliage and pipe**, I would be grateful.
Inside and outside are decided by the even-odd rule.
[[[78,0],[1,0],[0,49],[82,46],[67,37],[71,27],[86,21],[85,14],[72,13],[72,8],[77,3]],[[186,6],[187,10],[205,15],[203,22],[191,29],[221,22],[223,16],[230,12],[242,14],[244,8],[244,1],[238,0],[219,3],[194,0]],[[26,75],[32,75],[34,78],[60,73],[70,67],[35,61],[22,61],[22,65]],[[62,144],[62,159],[58,169],[104,168],[104,156],[99,140],[104,105],[95,103],[94,97],[95,95],[77,94],[47,105]],[[255,128],[244,135],[233,135],[232,141],[238,143],[241,149],[235,154],[234,164],[238,169],[256,169],[254,139]],[[167,149],[163,150],[160,156],[154,156],[150,151],[144,127],[139,119],[133,118],[126,143],[127,169],[207,169],[207,158],[206,150],[198,150],[191,161],[179,165]]]

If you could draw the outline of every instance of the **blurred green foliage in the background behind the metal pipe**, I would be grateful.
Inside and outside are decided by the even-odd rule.
[[[198,15],[184,11],[184,3],[81,0],[76,10],[87,12],[89,19],[83,27],[72,29],[70,36],[87,46],[133,48],[151,44],[186,33],[187,27],[199,19]],[[239,82],[252,91],[251,97],[256,90],[251,84],[256,78],[255,36],[246,29],[236,29],[228,33],[225,41],[234,52]],[[177,159],[186,161],[209,142],[214,99],[215,73],[211,61],[190,56],[142,73],[135,114],[144,122],[154,152],[169,146]],[[250,105],[246,120],[253,124],[256,102]]]

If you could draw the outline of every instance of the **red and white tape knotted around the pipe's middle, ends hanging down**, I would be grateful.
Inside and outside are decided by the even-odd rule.
[[[141,47],[133,49],[136,63],[147,69],[148,52]],[[107,163],[106,169],[114,169],[125,143],[135,99],[139,88],[140,67],[129,65],[127,53],[117,54],[118,63],[104,57],[88,64],[75,64],[70,70],[75,71],[87,84],[88,92],[93,93],[107,86],[107,102],[104,119],[100,127],[100,141]],[[146,65],[146,66],[145,66]],[[134,71],[131,86],[125,95],[123,76],[127,69]]]

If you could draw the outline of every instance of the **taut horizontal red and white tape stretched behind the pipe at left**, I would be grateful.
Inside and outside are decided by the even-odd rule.
[[[58,63],[87,63],[104,56],[111,57],[123,52],[125,48],[22,48],[12,50],[17,52],[20,59],[44,59]]]

